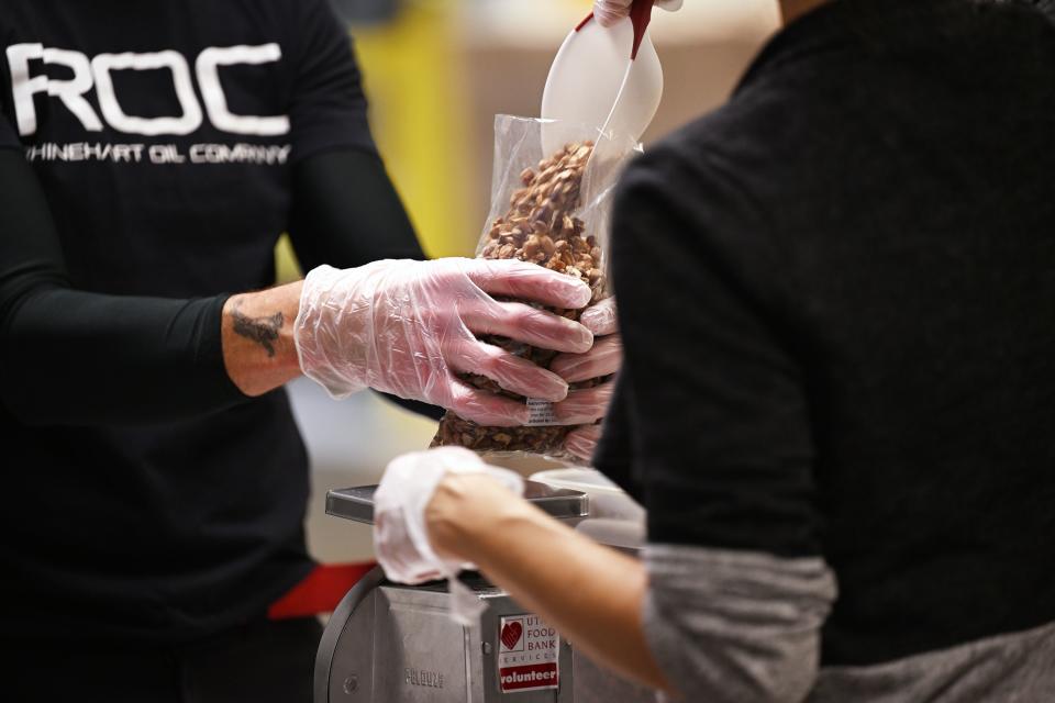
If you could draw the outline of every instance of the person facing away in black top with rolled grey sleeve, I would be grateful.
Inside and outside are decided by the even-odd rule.
[[[681,700],[1048,701],[1051,4],[781,4],[730,102],[617,196],[596,462],[648,510],[643,561],[468,461],[378,524],[420,520],[433,558]],[[429,566],[384,524],[382,565]]]

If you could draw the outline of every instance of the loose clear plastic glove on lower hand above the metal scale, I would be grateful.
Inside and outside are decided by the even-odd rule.
[[[523,479],[507,469],[488,466],[475,453],[462,447],[440,447],[397,457],[385,470],[374,494],[374,549],[385,576],[399,583],[423,583],[449,579],[454,594],[452,615],[471,622],[481,606],[455,577],[471,563],[436,556],[425,525],[427,507],[443,477],[451,473],[485,473],[523,495]]]

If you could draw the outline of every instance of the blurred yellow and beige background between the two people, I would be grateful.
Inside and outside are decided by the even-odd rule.
[[[355,44],[374,136],[425,252],[473,256],[489,208],[493,118],[538,115],[549,64],[590,0],[332,1]],[[779,22],[776,0],[685,5],[654,15],[666,87],[646,149],[720,105]],[[282,281],[300,276],[285,239],[277,260]],[[373,393],[337,403],[303,379],[289,390],[312,460],[312,551],[330,563],[367,560],[370,531],[325,517],[325,493],[376,483],[392,457],[429,446],[435,423]]]

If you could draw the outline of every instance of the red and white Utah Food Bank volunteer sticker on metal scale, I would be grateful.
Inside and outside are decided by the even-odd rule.
[[[499,623],[498,680],[502,693],[560,688],[560,635],[537,615]]]

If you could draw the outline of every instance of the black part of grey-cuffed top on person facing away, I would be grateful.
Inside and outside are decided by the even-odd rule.
[[[653,543],[823,558],[825,667],[1055,622],[1053,76],[1021,3],[839,0],[622,185],[598,466]]]

